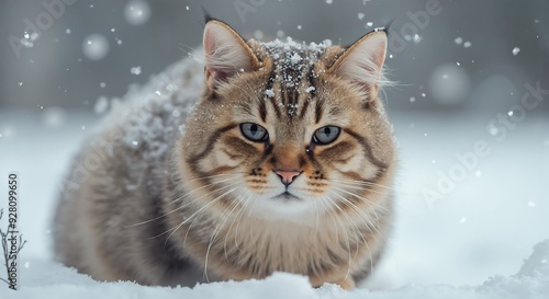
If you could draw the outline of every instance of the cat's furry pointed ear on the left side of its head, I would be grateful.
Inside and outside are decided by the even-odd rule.
[[[227,24],[211,19],[204,28],[205,80],[211,90],[238,72],[259,66],[246,42]]]

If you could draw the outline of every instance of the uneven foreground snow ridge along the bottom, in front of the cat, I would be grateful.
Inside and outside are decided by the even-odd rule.
[[[464,221],[463,221],[464,222]],[[131,281],[102,283],[53,262],[26,262],[20,273],[23,287],[5,291],[2,298],[546,298],[549,294],[549,240],[534,246],[534,253],[511,276],[491,276],[473,286],[407,285],[395,290],[343,290],[325,284],[313,288],[304,276],[274,273],[262,280],[224,281],[188,287],[149,287]]]

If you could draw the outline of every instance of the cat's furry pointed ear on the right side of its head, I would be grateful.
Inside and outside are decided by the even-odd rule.
[[[386,32],[383,30],[362,36],[348,47],[330,68],[336,76],[363,89],[369,102],[376,100],[383,78],[386,39]]]

